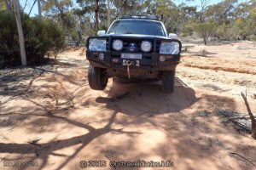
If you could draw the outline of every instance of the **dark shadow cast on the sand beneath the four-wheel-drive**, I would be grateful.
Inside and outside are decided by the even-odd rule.
[[[124,114],[148,116],[182,111],[198,100],[195,90],[178,78],[173,94],[163,93],[160,82],[125,84],[113,79],[108,97],[96,98],[97,103],[106,104],[110,110],[115,108],[113,102],[119,102],[120,112]]]

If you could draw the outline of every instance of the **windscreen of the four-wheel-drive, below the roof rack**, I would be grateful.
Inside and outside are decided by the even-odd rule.
[[[151,20],[117,20],[108,30],[108,34],[143,34],[165,37],[160,22]]]

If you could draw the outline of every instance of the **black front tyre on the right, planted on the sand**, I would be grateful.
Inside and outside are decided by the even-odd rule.
[[[162,72],[162,90],[167,94],[172,94],[174,91],[175,71]]]

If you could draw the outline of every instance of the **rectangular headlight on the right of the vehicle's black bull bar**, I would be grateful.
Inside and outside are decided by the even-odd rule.
[[[160,54],[179,54],[178,42],[161,42]]]

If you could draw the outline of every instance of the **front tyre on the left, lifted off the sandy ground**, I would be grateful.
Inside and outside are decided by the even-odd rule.
[[[103,90],[108,84],[107,70],[99,67],[89,66],[88,81],[90,88]]]

